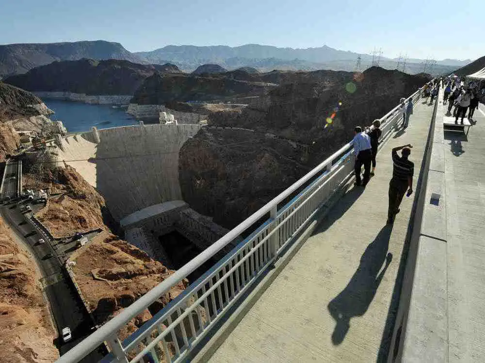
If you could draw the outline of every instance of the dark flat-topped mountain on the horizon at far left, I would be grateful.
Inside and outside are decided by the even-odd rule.
[[[28,70],[53,61],[121,59],[143,63],[121,44],[104,40],[72,43],[7,44],[0,45],[0,79],[26,73]]]

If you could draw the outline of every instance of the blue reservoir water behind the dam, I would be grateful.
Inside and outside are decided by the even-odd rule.
[[[113,108],[111,105],[90,105],[62,100],[44,99],[43,101],[55,112],[50,115],[50,119],[63,121],[68,132],[91,131],[92,126],[106,129],[138,124],[138,121],[121,107]]]

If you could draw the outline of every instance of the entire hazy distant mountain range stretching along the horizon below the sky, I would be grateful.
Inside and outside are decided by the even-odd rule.
[[[247,44],[236,47],[227,45],[195,46],[167,45],[149,52],[131,53],[120,43],[81,41],[72,43],[48,44],[9,44],[0,45],[0,78],[23,74],[32,68],[49,64],[53,61],[74,61],[83,58],[93,60],[119,59],[142,64],[173,63],[181,70],[192,72],[202,64],[218,64],[225,69],[254,67],[259,71],[280,70],[317,70],[330,69],[342,71],[357,70],[360,57],[360,69],[364,70],[378,63],[387,69],[404,69],[403,62],[396,59],[372,57],[331,48],[327,45],[315,48],[294,49],[279,48],[270,45]],[[466,65],[469,60],[446,59],[437,61],[431,67],[425,67],[420,59],[408,59],[405,72],[446,74],[457,67]]]

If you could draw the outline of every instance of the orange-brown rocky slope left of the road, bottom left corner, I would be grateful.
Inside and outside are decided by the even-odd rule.
[[[2,362],[48,363],[59,358],[56,332],[42,297],[35,262],[0,218],[0,350]]]

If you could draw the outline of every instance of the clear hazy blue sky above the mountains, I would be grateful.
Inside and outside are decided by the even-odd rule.
[[[0,44],[328,45],[384,56],[485,55],[485,0],[0,0]],[[443,5],[445,4],[445,5]],[[453,4],[453,5],[451,5]]]

